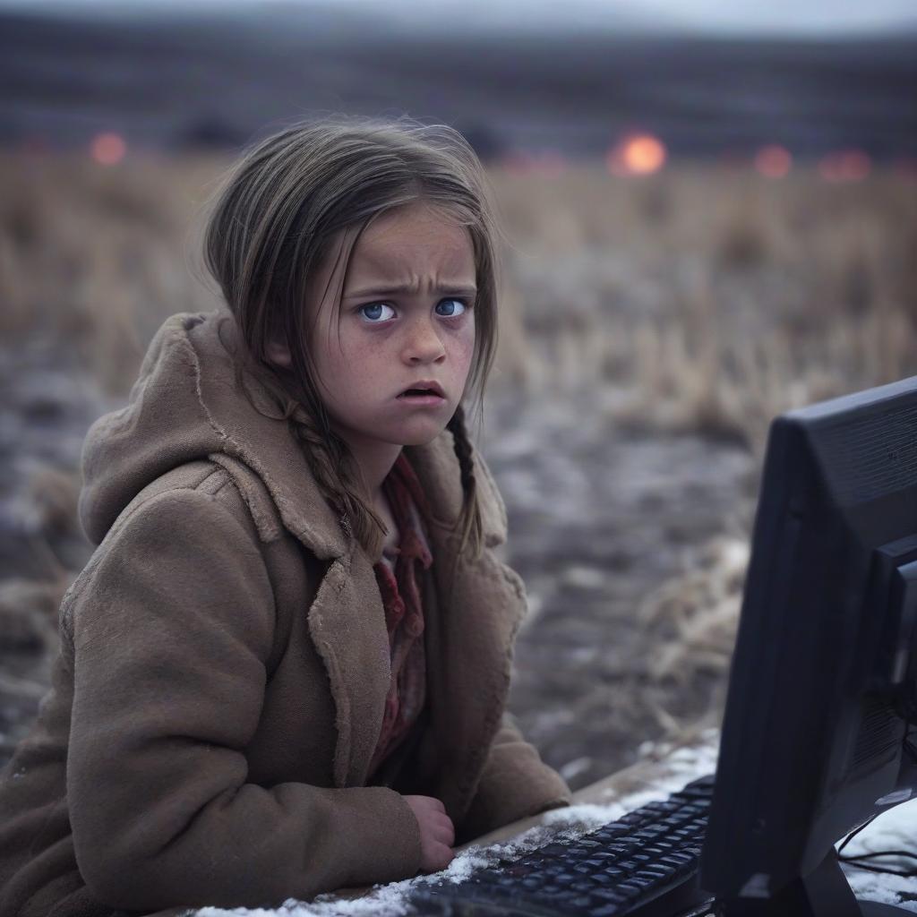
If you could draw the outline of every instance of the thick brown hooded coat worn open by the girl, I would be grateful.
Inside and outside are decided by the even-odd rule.
[[[260,410],[238,392],[227,337],[225,308],[172,315],[127,406],[86,436],[97,547],[0,775],[0,917],[277,907],[414,876],[403,793],[443,801],[457,844],[569,804],[505,713],[525,590],[494,551],[506,513],[477,452],[486,547],[453,569],[448,431],[404,447],[432,514],[425,716],[367,785],[391,678],[378,558],[264,387],[246,377]]]

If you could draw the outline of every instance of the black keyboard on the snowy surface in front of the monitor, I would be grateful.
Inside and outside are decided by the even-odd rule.
[[[698,885],[713,777],[689,783],[575,840],[555,838],[458,883],[424,885],[408,899],[439,917],[675,917],[712,913]]]

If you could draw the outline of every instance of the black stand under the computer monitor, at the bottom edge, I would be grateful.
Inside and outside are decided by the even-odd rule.
[[[834,848],[808,876],[796,878],[768,900],[724,901],[722,917],[904,917],[894,904],[857,900],[837,862]]]

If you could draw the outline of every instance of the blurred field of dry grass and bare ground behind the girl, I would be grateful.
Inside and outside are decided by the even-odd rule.
[[[57,604],[91,550],[75,521],[85,427],[125,400],[165,316],[217,303],[197,239],[225,165],[128,159],[104,169],[76,158],[0,157],[0,764],[35,714]],[[491,176],[508,244],[492,375],[501,432],[485,432],[492,446],[483,448],[494,456],[511,523],[522,520],[516,531],[525,537],[514,548],[511,528],[509,558],[533,606],[513,706],[576,786],[632,759],[641,742],[715,722],[770,418],[917,373],[917,181],[874,171],[859,182],[824,182],[804,168],[772,181],[701,165],[639,180],[599,165],[552,178],[493,167]],[[691,550],[645,569],[630,598],[602,619],[606,631],[617,628],[625,671],[606,654],[596,662],[601,677],[587,679],[574,662],[589,657],[591,637],[568,622],[569,633],[584,636],[570,646],[567,693],[552,700],[538,693],[545,680],[532,667],[547,639],[539,631],[550,622],[546,603],[559,600],[538,580],[536,554],[525,554],[535,544],[525,520],[535,517],[525,514],[514,470],[527,467],[526,449],[562,458],[577,436],[596,475],[608,457],[621,458],[613,443],[627,442],[702,442],[705,451],[686,454],[702,464],[739,454],[747,468],[724,495],[730,511],[713,509],[694,527],[691,515],[676,520],[679,544]],[[621,473],[625,464],[614,467]],[[688,463],[662,465],[683,491]],[[545,468],[536,461],[525,479],[536,496],[547,491],[538,477]],[[654,480],[620,477],[614,486],[646,488],[641,524],[670,533],[674,504],[653,502],[658,481],[667,483]],[[563,501],[562,490],[551,492]],[[550,543],[549,526],[542,538]],[[569,588],[589,592],[589,569],[564,563]],[[600,601],[590,607],[602,618]],[[615,741],[577,732],[575,697],[588,697],[594,716],[611,716],[614,706]]]

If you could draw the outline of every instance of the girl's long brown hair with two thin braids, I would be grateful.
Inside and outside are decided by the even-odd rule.
[[[204,263],[219,283],[246,345],[244,352],[234,355],[238,386],[248,394],[243,384],[246,370],[267,385],[345,532],[356,537],[373,559],[381,556],[385,526],[368,505],[369,495],[347,443],[329,424],[305,343],[312,316],[304,315],[302,304],[308,278],[326,258],[344,260],[343,276],[359,234],[370,221],[392,207],[419,200],[470,233],[478,293],[466,391],[473,392],[480,421],[496,349],[501,230],[481,161],[457,130],[406,116],[381,120],[336,115],[295,124],[260,140],[226,174],[204,230]],[[268,359],[271,339],[287,343],[289,371]],[[482,547],[481,508],[461,404],[447,428],[463,492],[456,521],[458,554],[468,546],[477,558]]]

